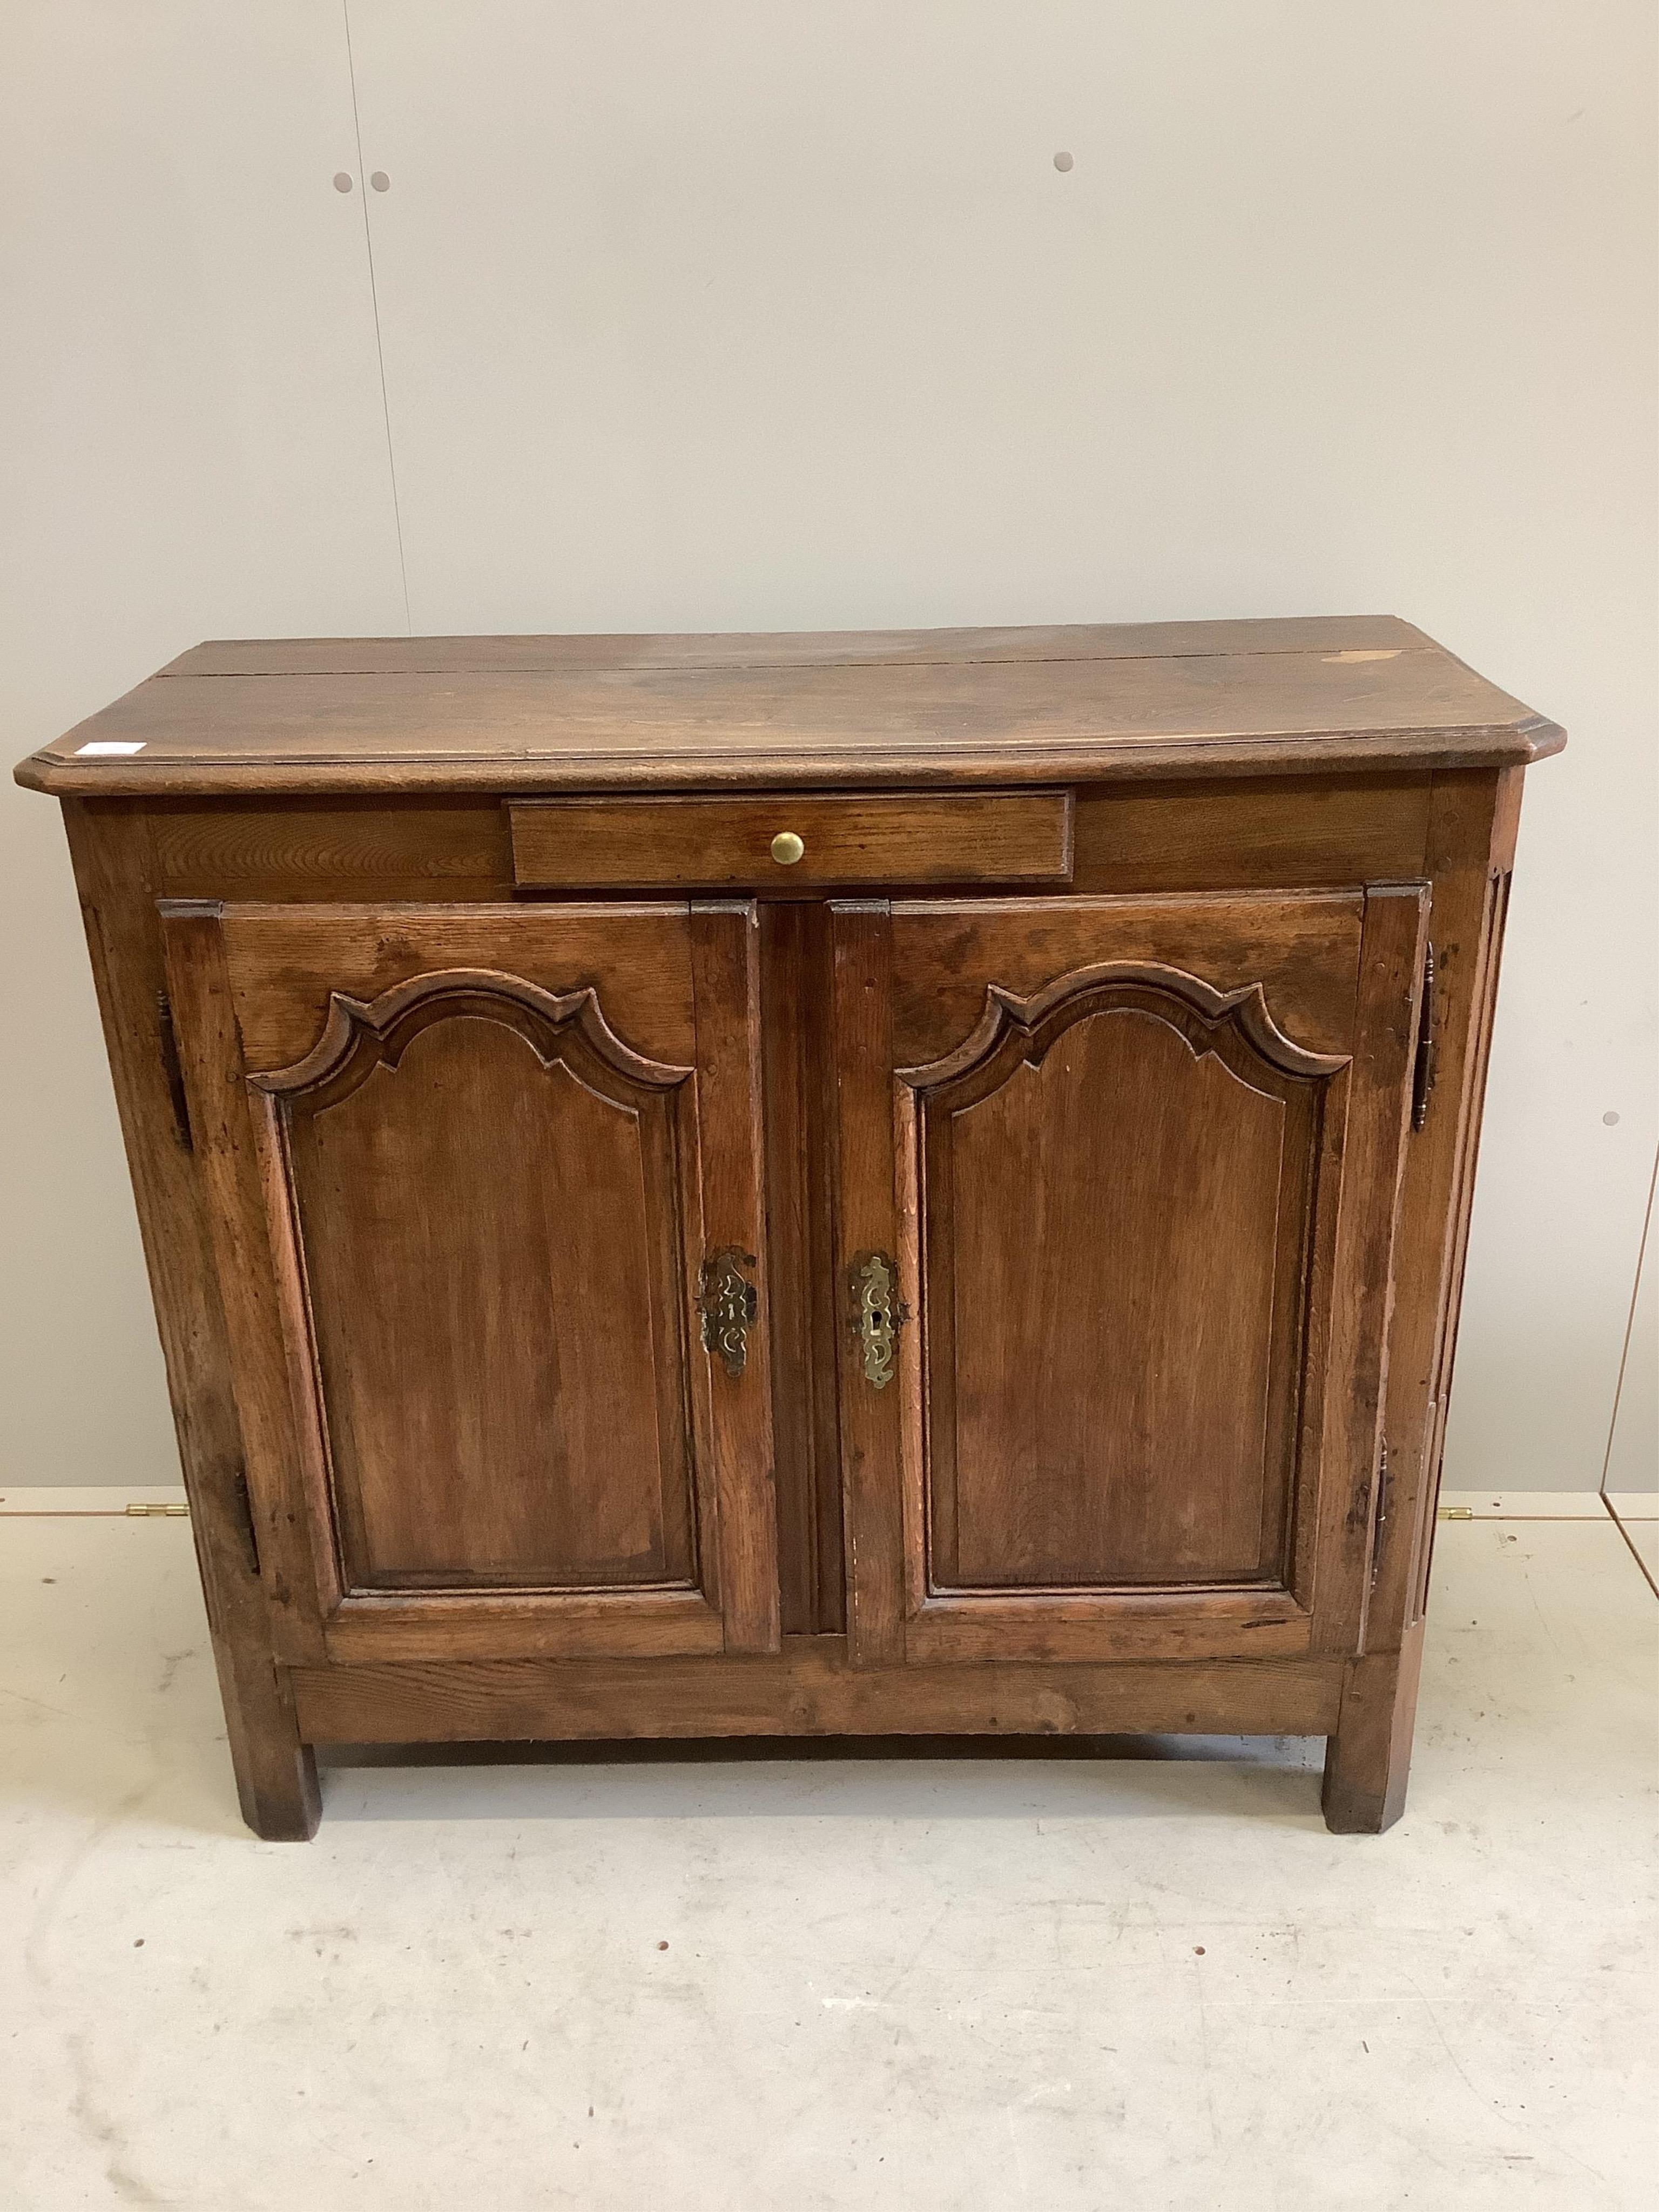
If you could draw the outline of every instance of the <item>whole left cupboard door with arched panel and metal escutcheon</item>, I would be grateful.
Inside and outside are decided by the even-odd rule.
[[[772,1650],[748,905],[164,905],[283,1657]]]

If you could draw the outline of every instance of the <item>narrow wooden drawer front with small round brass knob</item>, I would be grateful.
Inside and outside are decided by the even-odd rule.
[[[1071,792],[509,801],[535,891],[1071,883]]]

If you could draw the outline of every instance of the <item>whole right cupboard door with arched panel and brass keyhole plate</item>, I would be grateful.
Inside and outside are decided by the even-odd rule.
[[[860,1663],[1358,1648],[1425,911],[834,909]]]

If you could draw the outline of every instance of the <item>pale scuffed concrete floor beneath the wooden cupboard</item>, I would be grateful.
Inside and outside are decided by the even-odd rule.
[[[188,1524],[0,1520],[0,1582],[4,2212],[1655,2201],[1606,1517],[1442,1522],[1383,1838],[1210,1741],[352,1767],[261,1845]]]

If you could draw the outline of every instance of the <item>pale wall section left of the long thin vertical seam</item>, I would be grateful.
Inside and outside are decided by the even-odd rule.
[[[403,628],[338,7],[0,9],[4,765],[197,637]],[[0,796],[0,1482],[177,1482],[58,810]]]

